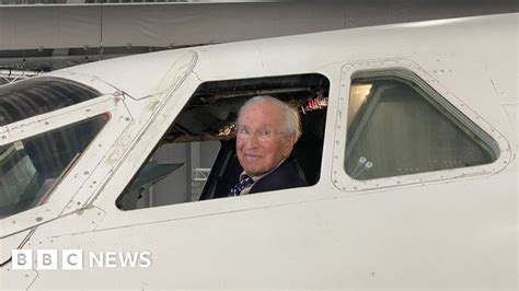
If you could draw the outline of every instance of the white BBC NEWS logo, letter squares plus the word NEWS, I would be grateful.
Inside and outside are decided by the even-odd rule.
[[[12,249],[13,270],[82,270],[90,268],[149,268],[150,252],[89,252],[82,249]]]

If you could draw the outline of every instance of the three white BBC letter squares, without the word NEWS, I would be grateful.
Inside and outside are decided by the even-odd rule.
[[[83,251],[62,249],[61,259],[58,258],[57,249],[36,249],[36,259],[33,257],[33,249],[12,249],[13,270],[57,270],[58,261],[61,263],[62,270],[83,269]]]

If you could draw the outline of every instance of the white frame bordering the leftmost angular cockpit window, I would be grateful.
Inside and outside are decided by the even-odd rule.
[[[101,85],[101,88],[107,89],[106,85]],[[81,200],[74,201],[73,198],[81,190],[95,190],[94,188],[84,189],[82,187],[93,175],[94,170],[100,166],[100,162],[104,156],[104,153],[95,151],[93,144],[111,147],[124,131],[124,128],[132,120],[124,104],[118,102],[120,98],[120,96],[114,94],[104,94],[79,104],[0,127],[0,146],[4,146],[88,120],[95,116],[107,115],[106,123],[84,152],[74,161],[73,166],[67,168],[60,181],[53,186],[53,191],[46,194],[46,202],[0,219],[0,238],[54,220],[64,212],[77,211],[85,205]],[[89,159],[82,159],[83,156],[89,156]],[[93,156],[95,159],[92,159]],[[81,173],[78,174],[78,172]],[[84,197],[84,195],[80,196]]]

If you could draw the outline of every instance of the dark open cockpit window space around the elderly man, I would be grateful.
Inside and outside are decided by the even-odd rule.
[[[214,81],[197,88],[187,105],[117,199],[123,210],[223,197],[237,178],[237,116],[257,95],[297,107],[302,136],[292,150],[309,185],[319,181],[328,80],[299,74]]]

